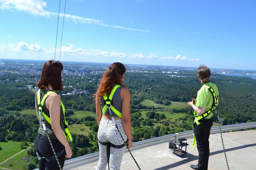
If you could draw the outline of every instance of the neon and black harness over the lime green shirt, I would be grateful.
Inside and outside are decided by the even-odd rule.
[[[206,110],[202,115],[196,117],[196,112],[194,112],[194,116],[195,116],[195,121],[194,123],[196,123],[197,125],[200,125],[200,122],[199,120],[200,119],[203,119],[205,117],[207,117],[211,112],[213,112],[215,109],[218,109],[218,101],[219,101],[219,92],[218,92],[218,95],[216,96],[215,93],[214,93],[214,90],[212,87],[210,86],[207,86],[206,87],[208,88],[208,90],[211,92],[212,94],[212,97],[213,97],[213,104],[212,104],[212,108],[209,109],[209,110]],[[192,142],[192,147],[195,148],[196,146],[196,137],[195,137],[195,134],[193,136],[193,142]]]

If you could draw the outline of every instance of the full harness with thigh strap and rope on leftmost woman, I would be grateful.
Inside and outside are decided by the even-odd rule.
[[[48,117],[48,116],[44,113],[44,111],[43,111],[43,105],[44,105],[44,101],[46,100],[46,98],[47,98],[50,94],[53,94],[53,93],[56,93],[56,92],[55,92],[55,91],[49,91],[49,92],[47,92],[47,93],[44,95],[44,97],[43,97],[43,99],[41,100],[41,102],[40,102],[40,99],[41,99],[41,97],[40,97],[40,89],[37,91],[37,110],[38,110],[38,114],[39,114],[39,117],[40,117],[40,120],[41,120],[41,124],[43,125],[44,131],[45,131],[45,133],[47,134],[47,137],[48,137],[49,141],[50,141],[50,138],[49,138],[49,135],[48,135],[48,133],[47,133],[44,120],[46,120],[50,125],[51,125],[51,121],[50,121],[50,117]],[[72,136],[71,136],[71,134],[70,134],[70,131],[69,131],[68,128],[67,128],[68,122],[67,122],[66,119],[65,119],[65,107],[64,107],[64,104],[62,103],[61,100],[60,100],[60,103],[61,103],[61,107],[62,107],[62,110],[63,110],[63,117],[64,117],[64,122],[65,122],[65,124],[64,124],[65,132],[63,131],[63,134],[64,134],[65,137],[66,137],[66,134],[67,134],[68,137],[69,137],[69,139],[70,139],[70,141],[72,142],[72,141],[73,141]],[[51,144],[51,141],[50,141],[50,144]],[[50,157],[45,158],[45,157],[41,157],[41,156],[36,152],[36,154],[37,154],[37,159],[40,160],[41,158],[44,158],[47,162],[52,162],[52,161],[54,161],[55,159],[57,159],[57,162],[58,162],[58,157],[60,157],[60,156],[65,152],[65,150],[63,149],[63,150],[61,150],[60,152],[55,153],[55,150],[54,150],[52,144],[51,144],[51,147],[52,147],[53,153],[54,153],[53,156],[50,156]],[[59,164],[59,162],[58,162],[58,164]],[[60,167],[60,164],[59,164],[59,167]],[[60,167],[60,169],[61,169],[61,167]]]

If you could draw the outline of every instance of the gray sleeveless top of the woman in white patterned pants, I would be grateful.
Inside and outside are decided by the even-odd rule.
[[[117,84],[115,84],[115,85],[117,85]],[[115,85],[114,85],[114,86],[115,86]],[[118,88],[116,89],[114,95],[113,95],[113,98],[112,98],[113,107],[115,107],[115,109],[118,110],[118,111],[121,112],[121,113],[122,113],[122,103],[123,103],[123,100],[121,99],[121,89],[122,89],[122,88],[123,88],[122,86],[121,86],[121,87],[118,87]],[[108,96],[108,97],[109,97],[109,96]],[[101,106],[101,110],[102,110],[103,107],[104,107],[104,98],[101,97],[101,99],[99,100],[99,102],[100,102],[100,106]],[[106,114],[106,115],[110,115],[108,109],[106,110],[105,114]],[[115,112],[113,112],[113,111],[112,111],[112,115],[113,115],[113,116],[117,116],[117,115],[115,114]],[[117,117],[119,117],[119,116],[117,116]]]

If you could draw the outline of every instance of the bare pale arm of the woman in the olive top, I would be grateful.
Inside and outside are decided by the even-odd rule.
[[[45,100],[45,104],[47,109],[49,109],[50,111],[50,120],[53,132],[57,139],[60,141],[60,143],[63,144],[63,146],[65,147],[65,156],[67,158],[70,158],[72,156],[72,150],[60,127],[60,96],[56,93],[51,94]]]

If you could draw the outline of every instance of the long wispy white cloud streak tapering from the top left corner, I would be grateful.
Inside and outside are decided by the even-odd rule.
[[[45,11],[43,8],[47,8],[46,2],[43,0],[0,0],[0,9],[1,10],[13,10],[16,9],[17,11],[25,11],[29,14],[35,16],[42,16],[42,17],[57,17],[59,14],[55,12]],[[64,14],[60,14],[60,17],[63,17]],[[71,14],[65,14],[65,19],[72,20],[74,23],[84,23],[84,24],[95,24],[105,27],[110,27],[113,29],[126,29],[132,31],[141,31],[141,32],[151,32],[144,29],[134,29],[134,28],[127,28],[123,26],[111,26],[105,23],[105,21],[91,19],[86,17],[75,16]]]

